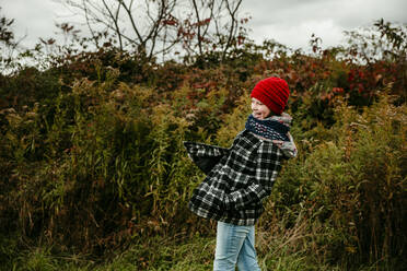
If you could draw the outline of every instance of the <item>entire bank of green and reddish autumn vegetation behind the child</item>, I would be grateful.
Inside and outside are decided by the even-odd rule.
[[[406,27],[371,31],[329,49],[312,37],[311,52],[245,40],[186,62],[113,45],[3,61],[1,269],[211,270],[183,141],[229,146],[254,84],[278,74],[299,157],[257,225],[261,268],[405,270]]]

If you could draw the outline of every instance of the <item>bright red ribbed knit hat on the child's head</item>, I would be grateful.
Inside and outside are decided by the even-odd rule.
[[[260,101],[274,114],[281,115],[289,95],[290,91],[284,80],[280,78],[266,78],[255,85],[251,97]]]

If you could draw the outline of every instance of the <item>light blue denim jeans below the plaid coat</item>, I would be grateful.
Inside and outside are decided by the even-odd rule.
[[[213,271],[259,271],[255,227],[218,222]]]

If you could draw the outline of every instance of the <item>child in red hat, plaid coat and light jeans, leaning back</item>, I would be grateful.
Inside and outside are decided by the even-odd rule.
[[[260,270],[255,250],[255,223],[283,158],[296,156],[283,113],[289,87],[267,78],[252,91],[252,114],[230,149],[185,142],[189,157],[207,177],[194,190],[189,209],[218,221],[213,270]]]

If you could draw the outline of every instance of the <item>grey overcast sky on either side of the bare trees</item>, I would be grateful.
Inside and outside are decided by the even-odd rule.
[[[16,37],[27,35],[32,47],[39,37],[55,37],[55,23],[72,21],[55,0],[0,0],[1,14],[15,19]],[[275,39],[293,49],[309,48],[314,33],[323,47],[344,42],[344,31],[372,25],[375,20],[407,23],[406,0],[243,0],[241,15],[249,15],[248,36],[256,43]]]

